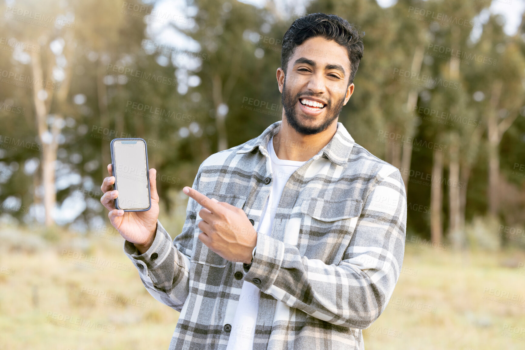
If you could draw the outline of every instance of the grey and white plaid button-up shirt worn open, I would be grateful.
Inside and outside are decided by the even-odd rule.
[[[267,144],[280,123],[209,156],[193,188],[242,208],[258,227],[272,186]],[[225,349],[243,281],[261,290],[254,350],[364,349],[362,330],[385,310],[403,263],[407,206],[397,168],[338,122],[330,142],[290,176],[249,269],[198,240],[201,208],[188,199],[173,242],[159,221],[144,254],[124,242],[148,292],[181,312],[170,349]]]

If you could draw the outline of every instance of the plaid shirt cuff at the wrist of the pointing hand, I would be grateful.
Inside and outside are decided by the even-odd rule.
[[[265,292],[277,279],[285,256],[285,243],[257,232],[256,247],[254,261],[244,269],[247,272],[244,280]]]

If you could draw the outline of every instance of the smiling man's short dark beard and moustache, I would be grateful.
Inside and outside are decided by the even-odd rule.
[[[296,104],[299,101],[300,96],[316,97],[316,94],[309,92],[309,91],[304,91],[304,92],[299,92],[296,94],[295,97],[292,97],[291,91],[288,91],[286,89],[286,78],[285,78],[285,82],[282,87],[281,103],[282,103],[282,108],[285,110],[286,121],[288,122],[288,124],[290,124],[290,126],[295,131],[303,135],[318,134],[320,132],[323,132],[324,130],[327,130],[328,127],[332,124],[332,122],[339,116],[339,113],[343,109],[344,96],[340,100],[335,101],[333,105],[332,105],[332,101],[328,100],[327,104],[325,104],[325,106],[323,107],[323,109],[327,109],[327,110],[325,112],[325,117],[322,123],[319,124],[318,126],[308,126],[306,123],[303,122],[303,120],[304,119],[312,120],[314,119],[314,117],[311,117],[308,115],[306,116],[297,115],[298,113],[296,109]],[[301,102],[299,101],[299,103]]]

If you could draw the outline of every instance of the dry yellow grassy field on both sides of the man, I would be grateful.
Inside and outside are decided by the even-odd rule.
[[[146,292],[114,231],[4,228],[0,239],[1,349],[169,346],[178,312]],[[407,246],[387,309],[363,331],[366,349],[525,348],[523,262],[519,250]]]

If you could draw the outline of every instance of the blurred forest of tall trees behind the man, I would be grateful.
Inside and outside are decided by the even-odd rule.
[[[114,137],[148,142],[161,221],[174,237],[185,219],[182,187],[191,186],[201,162],[281,119],[275,75],[282,36],[293,19],[324,12],[365,33],[355,92],[339,121],[357,143],[401,170],[407,253],[433,247],[426,253],[491,251],[505,259],[508,249],[525,248],[525,26],[509,35],[506,18],[489,9],[496,3],[518,12],[521,2],[132,1],[0,5],[0,226],[10,228],[0,236],[13,247],[39,249],[40,241],[16,238],[23,231],[40,232],[56,247],[61,235],[89,238],[103,231],[120,238],[100,204]],[[10,270],[0,261],[1,283]],[[450,278],[433,270],[440,261],[420,271]],[[521,268],[520,261],[525,258],[502,264]],[[412,267],[418,263],[424,266],[415,259]],[[136,277],[130,281],[145,293]],[[82,290],[64,283],[65,290]],[[38,288],[27,291],[35,309]],[[484,295],[475,289],[479,284],[473,288]],[[150,312],[148,320],[166,321],[162,314]],[[170,322],[166,334],[159,332],[164,345],[176,320]],[[480,340],[478,348],[484,344],[490,343]]]

